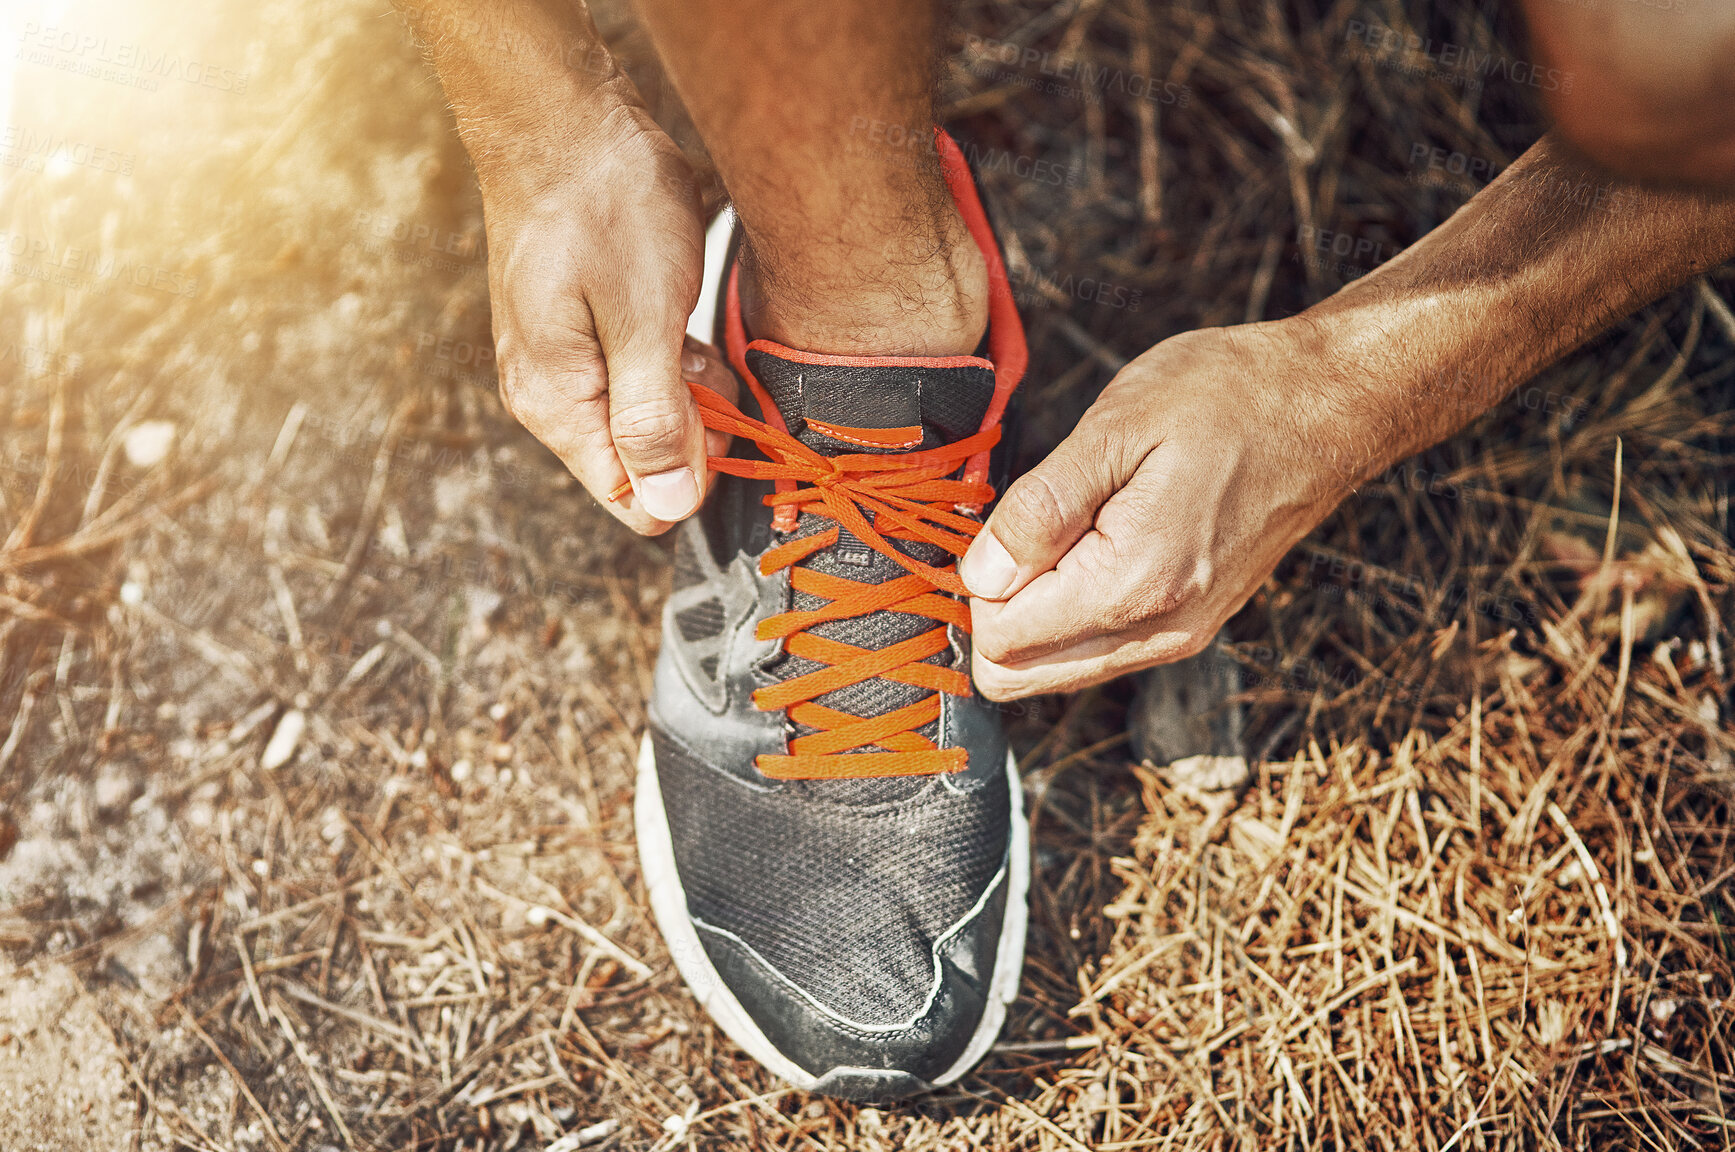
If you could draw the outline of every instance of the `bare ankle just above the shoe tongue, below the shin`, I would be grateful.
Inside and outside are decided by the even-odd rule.
[[[836,356],[968,356],[987,331],[987,260],[949,212],[928,241],[833,245],[809,259],[744,253],[748,330],[793,349]],[[770,267],[767,267],[770,265]]]

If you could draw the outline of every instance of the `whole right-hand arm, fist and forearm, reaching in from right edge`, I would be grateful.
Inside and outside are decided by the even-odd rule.
[[[1359,484],[1735,255],[1735,200],[1608,184],[1544,139],[1300,316],[1164,340],[965,557],[975,678],[1072,691],[1199,652]]]

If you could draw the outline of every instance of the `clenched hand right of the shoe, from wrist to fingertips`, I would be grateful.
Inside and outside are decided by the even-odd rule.
[[[1336,507],[1343,416],[1308,344],[1286,323],[1164,340],[1006,489],[961,564],[985,696],[1199,652]]]

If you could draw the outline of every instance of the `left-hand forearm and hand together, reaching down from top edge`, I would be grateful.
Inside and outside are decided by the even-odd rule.
[[[482,187],[507,409],[632,529],[666,531],[699,507],[706,451],[727,449],[685,382],[736,394],[717,349],[684,335],[704,265],[692,170],[581,5],[401,7]]]

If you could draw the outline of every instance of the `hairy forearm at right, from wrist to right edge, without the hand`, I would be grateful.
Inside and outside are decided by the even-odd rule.
[[[1553,137],[1296,321],[1362,425],[1350,484],[1435,444],[1614,321],[1735,257],[1735,198],[1610,184]]]

